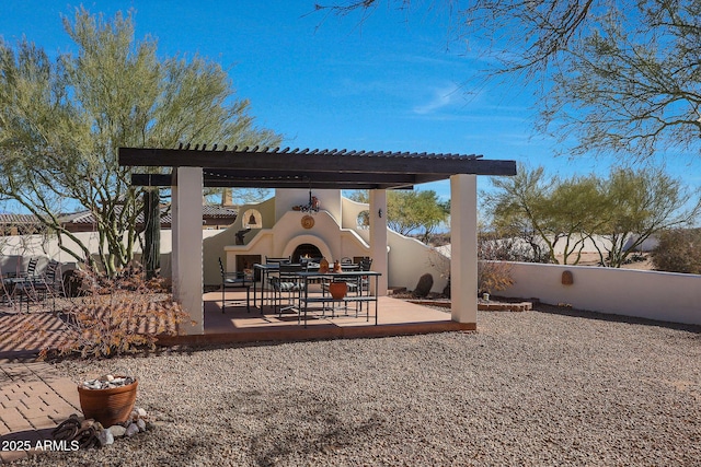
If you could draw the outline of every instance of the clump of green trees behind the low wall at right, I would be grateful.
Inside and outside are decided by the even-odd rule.
[[[499,236],[525,238],[533,256],[544,245],[552,262],[559,262],[562,245],[562,261],[577,264],[585,242],[596,235],[605,241],[594,243],[601,265],[621,267],[650,236],[689,224],[701,211],[698,194],[654,168],[560,179],[547,177],[542,167],[521,166],[517,176],[493,184],[496,191],[486,195],[486,203]]]

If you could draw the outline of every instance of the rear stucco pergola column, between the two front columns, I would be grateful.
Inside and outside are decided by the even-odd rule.
[[[381,214],[380,214],[381,213]],[[370,293],[387,295],[389,261],[387,257],[387,191],[370,190],[370,258],[372,270],[381,272],[375,290],[375,279],[370,279]]]

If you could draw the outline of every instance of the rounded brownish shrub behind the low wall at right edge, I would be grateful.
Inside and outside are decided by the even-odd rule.
[[[701,273],[701,229],[675,229],[659,235],[652,252],[659,271]]]

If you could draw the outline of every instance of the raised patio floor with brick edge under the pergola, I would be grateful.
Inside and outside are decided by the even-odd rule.
[[[304,328],[303,319],[298,324],[296,312],[285,312],[279,317],[269,305],[253,306],[246,313],[245,292],[227,292],[226,313],[221,313],[221,291],[203,295],[205,304],[205,334],[192,336],[163,336],[159,343],[171,345],[219,345],[227,342],[297,341],[310,339],[353,339],[388,337],[416,334],[474,330],[474,324],[451,320],[450,313],[407,303],[390,296],[378,300],[378,324],[375,325],[375,306],[370,317],[365,313],[355,316],[336,313],[335,317],[319,313],[310,314]],[[230,302],[238,302],[230,305]],[[344,312],[345,313],[345,312]]]

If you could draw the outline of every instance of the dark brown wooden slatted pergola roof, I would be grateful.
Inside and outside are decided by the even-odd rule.
[[[391,189],[455,174],[516,175],[515,161],[481,155],[225,147],[119,148],[119,165],[203,167],[205,187]],[[171,186],[172,175],[134,174],[134,185]]]

